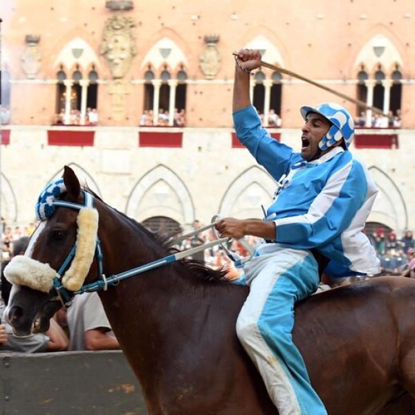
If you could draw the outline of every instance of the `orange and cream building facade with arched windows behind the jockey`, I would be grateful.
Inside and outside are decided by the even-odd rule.
[[[5,4],[6,3],[6,4]],[[236,6],[237,4],[237,6]],[[387,10],[387,12],[385,12]],[[261,217],[273,180],[232,134],[232,50],[365,100],[401,119],[399,129],[360,129],[354,151],[380,195],[372,223],[414,229],[415,5],[411,0],[223,2],[2,2],[2,100],[10,107],[1,146],[1,213],[33,221],[42,187],[73,165],[105,201],[140,221],[186,225],[216,212]],[[261,68],[251,95],[276,139],[299,149],[302,104],[344,101]],[[59,111],[98,109],[99,122],[54,126]],[[186,127],[173,127],[174,108]],[[172,127],[138,127],[168,111]],[[370,118],[368,111],[365,118]],[[81,122],[82,124],[82,122]]]

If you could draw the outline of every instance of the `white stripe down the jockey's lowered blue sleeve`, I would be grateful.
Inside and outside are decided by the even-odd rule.
[[[335,199],[338,198],[352,166],[353,160],[350,160],[329,178],[322,191],[317,195],[313,203],[311,203],[306,214],[276,219],[274,221],[275,225],[287,225],[288,223],[309,223],[313,225],[313,223],[320,220],[331,208]]]

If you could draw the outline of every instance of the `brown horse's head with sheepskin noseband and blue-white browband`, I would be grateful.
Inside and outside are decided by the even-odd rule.
[[[14,257],[4,270],[13,284],[4,315],[17,335],[48,330],[50,317],[64,304],[54,288],[56,281],[68,291],[76,291],[97,269],[96,264],[91,265],[98,212],[83,208],[84,199],[77,176],[66,166],[63,180],[51,183],[39,196],[37,217],[41,222],[25,255]],[[64,208],[57,201],[80,208]]]

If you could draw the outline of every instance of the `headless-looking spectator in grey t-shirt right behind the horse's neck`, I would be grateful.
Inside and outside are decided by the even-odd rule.
[[[76,295],[66,312],[69,350],[120,349],[97,293]]]

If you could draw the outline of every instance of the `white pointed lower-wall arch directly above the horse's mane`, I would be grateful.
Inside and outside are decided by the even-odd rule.
[[[165,165],[158,165],[133,187],[125,213],[137,221],[167,216],[178,223],[192,223],[194,203],[181,178]]]

